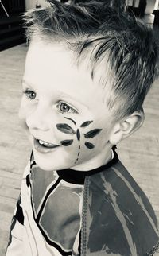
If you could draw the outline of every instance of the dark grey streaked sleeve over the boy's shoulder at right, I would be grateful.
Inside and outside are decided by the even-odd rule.
[[[111,238],[108,248],[119,255],[151,255],[158,243],[157,218],[147,196],[120,161],[89,177],[88,195],[89,214],[103,224],[101,234]]]

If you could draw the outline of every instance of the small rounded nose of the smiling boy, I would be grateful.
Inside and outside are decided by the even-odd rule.
[[[26,124],[29,129],[50,130],[52,127],[52,113],[46,107],[37,107],[27,118]]]

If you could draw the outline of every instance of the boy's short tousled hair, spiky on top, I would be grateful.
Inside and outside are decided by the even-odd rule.
[[[103,64],[99,81],[116,118],[142,111],[158,73],[153,29],[133,15],[95,1],[69,5],[49,0],[48,7],[25,14],[25,25],[29,40],[38,36],[48,42],[65,42],[78,60],[89,56],[92,80],[95,68]]]

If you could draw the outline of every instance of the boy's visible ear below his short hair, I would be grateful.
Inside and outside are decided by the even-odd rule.
[[[144,113],[135,111],[124,118],[121,122],[117,122],[111,130],[110,139],[112,145],[118,144],[122,139],[129,137],[138,128],[142,126],[144,122]]]

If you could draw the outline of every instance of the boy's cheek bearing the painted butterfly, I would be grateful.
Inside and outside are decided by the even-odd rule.
[[[92,120],[77,124],[76,120],[66,119],[70,122],[56,124],[56,135],[64,150],[71,153],[75,159],[74,164],[91,159],[104,148],[107,141],[106,134],[103,129],[96,127]]]

